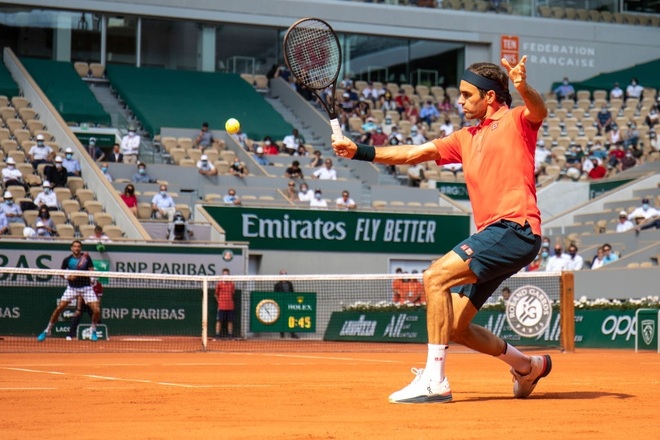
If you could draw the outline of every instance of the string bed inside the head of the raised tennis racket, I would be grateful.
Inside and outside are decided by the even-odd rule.
[[[320,90],[337,78],[339,44],[332,30],[322,23],[305,22],[291,29],[285,46],[291,73],[305,86]]]

